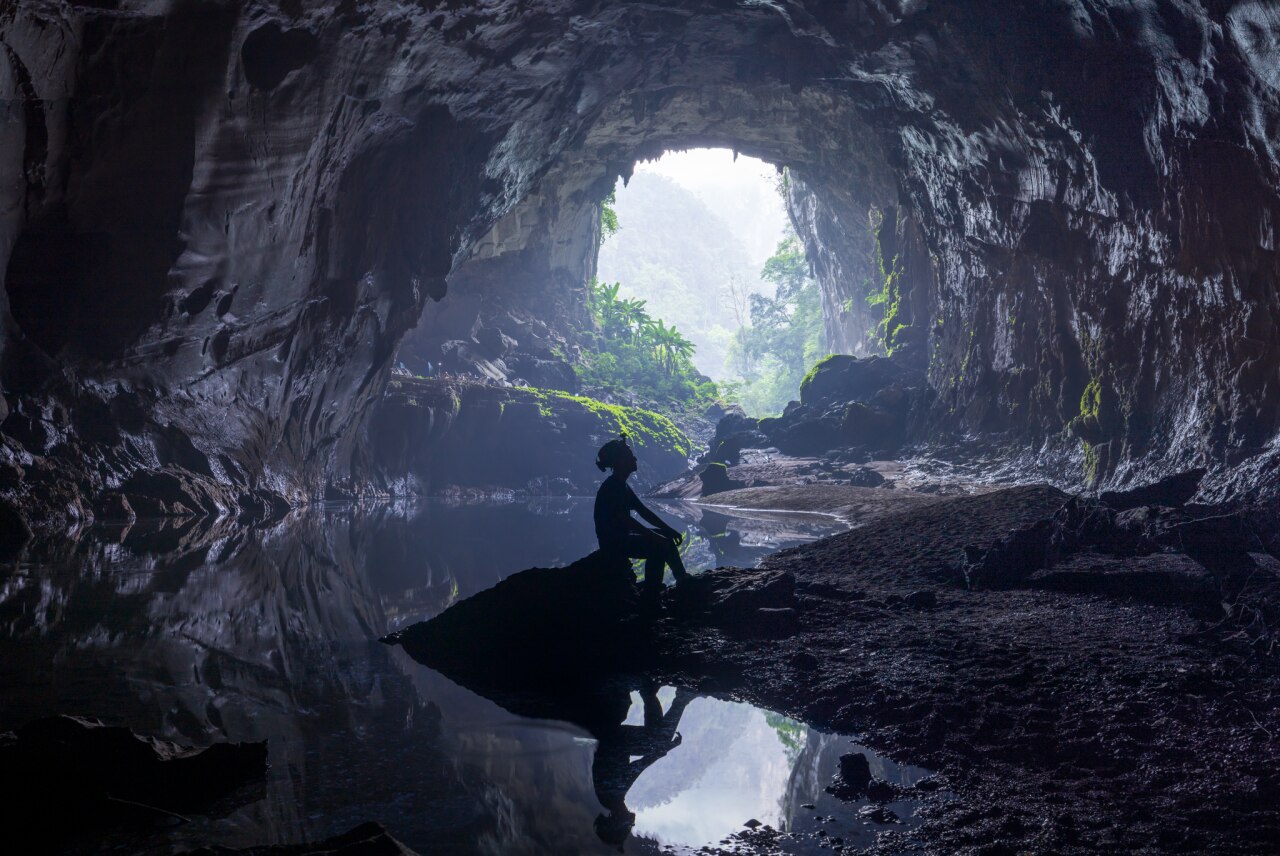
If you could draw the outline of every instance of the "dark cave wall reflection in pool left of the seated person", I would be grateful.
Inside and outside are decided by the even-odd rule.
[[[376,642],[390,615],[431,614],[448,603],[435,592],[461,587],[415,560],[422,537],[384,507],[29,553],[0,589],[0,727],[70,711],[197,745],[269,740],[265,798],[164,836],[177,844],[317,839],[376,818],[424,852],[589,852],[599,806],[581,736],[508,729],[477,749],[451,723],[509,717]],[[566,807],[540,814],[548,782],[586,802],[579,832]]]

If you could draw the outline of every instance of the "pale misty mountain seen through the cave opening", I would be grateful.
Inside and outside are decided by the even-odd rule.
[[[753,258],[759,250],[753,253],[732,225],[745,212],[714,211],[671,179],[643,171],[618,186],[614,210],[621,228],[600,248],[600,281],[622,283],[622,294],[648,301],[650,315],[675,324],[698,345],[699,371],[717,380],[730,375],[724,358],[737,330],[730,281],[768,289]],[[758,235],[749,238],[759,244]]]

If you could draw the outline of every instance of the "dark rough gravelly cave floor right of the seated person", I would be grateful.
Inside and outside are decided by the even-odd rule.
[[[824,493],[847,513],[854,494],[872,491]],[[924,827],[882,836],[874,852],[1276,852],[1274,559],[1254,554],[1247,581],[1229,583],[1231,610],[1184,553],[1107,555],[1114,532],[1009,587],[970,589],[957,571],[966,546],[1016,541],[1010,532],[1036,531],[1069,498],[1046,486],[941,500],[879,493],[878,519],[755,572],[708,572],[710,613],[668,592],[662,679],[858,733],[936,770],[942,787],[914,795]],[[724,500],[812,511],[823,491]],[[769,622],[741,619],[753,591]],[[777,836],[744,830],[732,851],[771,852]]]

